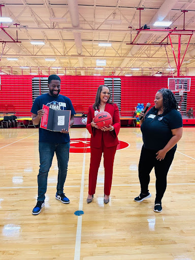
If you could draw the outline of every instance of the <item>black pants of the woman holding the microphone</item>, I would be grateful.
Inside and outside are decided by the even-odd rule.
[[[145,149],[142,147],[140,161],[139,161],[139,179],[141,185],[141,192],[146,194],[148,192],[148,185],[150,182],[150,172],[154,167],[156,176],[156,199],[155,202],[161,202],[167,188],[167,174],[172,164],[176,149],[171,149],[167,152],[164,160],[156,159],[155,150]]]

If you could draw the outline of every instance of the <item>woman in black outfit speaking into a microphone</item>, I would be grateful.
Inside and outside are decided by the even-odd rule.
[[[167,174],[182,137],[182,117],[177,111],[178,104],[170,89],[161,88],[154,100],[155,106],[145,115],[140,113],[143,147],[139,161],[141,193],[135,198],[142,202],[151,197],[148,190],[150,172],[154,167],[156,176],[156,198],[154,211],[161,212],[161,199],[167,187]]]

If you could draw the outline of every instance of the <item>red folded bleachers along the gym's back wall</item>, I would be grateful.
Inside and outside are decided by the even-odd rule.
[[[32,78],[25,75],[2,75],[0,90],[0,112],[22,113],[29,116],[32,106]],[[94,103],[96,90],[104,84],[104,78],[111,76],[61,76],[61,94],[67,95],[76,111],[87,113]],[[119,77],[119,76],[113,76]],[[121,78],[121,115],[134,111],[137,103],[150,102],[153,105],[158,89],[167,88],[168,76],[132,76]],[[187,95],[187,110],[195,109],[195,77],[191,76],[191,88]],[[132,112],[131,112],[132,113]],[[129,114],[129,116],[131,116]]]

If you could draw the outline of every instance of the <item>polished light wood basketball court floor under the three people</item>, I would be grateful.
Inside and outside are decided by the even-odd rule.
[[[45,208],[34,216],[39,170],[38,129],[0,129],[0,259],[194,260],[195,128],[184,128],[168,174],[163,211],[153,211],[152,197],[134,202],[140,193],[140,128],[121,128],[128,142],[117,150],[110,203],[103,203],[104,168],[92,203],[86,203],[89,153],[70,153],[64,192],[68,205],[55,200],[57,161],[48,177]],[[71,128],[75,138],[89,138],[85,128]],[[84,214],[76,216],[75,211]]]

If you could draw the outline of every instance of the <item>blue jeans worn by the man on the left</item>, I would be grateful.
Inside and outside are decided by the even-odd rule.
[[[39,143],[40,169],[38,174],[38,201],[45,200],[47,177],[54,153],[57,157],[58,177],[57,193],[63,193],[63,185],[67,177],[70,143]]]

